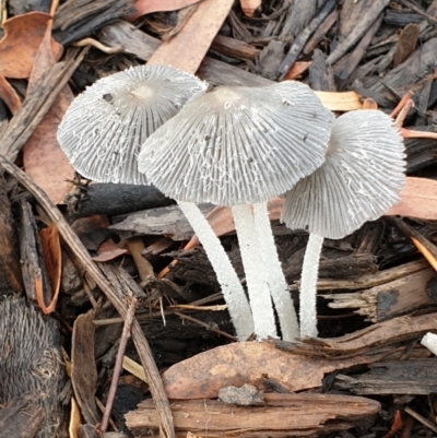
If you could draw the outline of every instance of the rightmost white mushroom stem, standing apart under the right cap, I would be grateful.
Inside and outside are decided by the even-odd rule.
[[[317,279],[323,236],[311,233],[304,257],[300,280],[300,338],[317,336]]]

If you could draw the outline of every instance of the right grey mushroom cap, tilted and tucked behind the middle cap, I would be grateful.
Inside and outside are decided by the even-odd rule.
[[[378,110],[356,110],[333,126],[324,164],[285,196],[291,229],[340,239],[399,202],[405,185],[403,139]]]

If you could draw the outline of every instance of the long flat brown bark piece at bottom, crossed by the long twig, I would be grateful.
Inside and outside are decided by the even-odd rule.
[[[235,406],[215,400],[177,401],[172,404],[176,437],[274,436],[303,437],[354,427],[378,413],[377,401],[331,394],[264,394],[264,406]],[[126,415],[134,437],[158,437],[157,418],[150,401]],[[150,433],[151,435],[147,435]]]

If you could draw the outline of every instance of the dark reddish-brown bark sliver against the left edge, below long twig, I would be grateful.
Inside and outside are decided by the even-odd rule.
[[[23,291],[16,235],[14,233],[7,181],[0,166],[0,296]]]

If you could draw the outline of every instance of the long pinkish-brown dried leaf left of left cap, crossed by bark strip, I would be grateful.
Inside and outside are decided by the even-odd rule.
[[[45,37],[35,57],[27,96],[35,91],[35,83],[38,79],[56,63],[50,34],[51,20],[46,25]],[[60,149],[56,138],[58,126],[73,98],[69,85],[66,85],[23,147],[23,164],[26,174],[55,204],[63,201],[71,189],[70,181],[74,178],[74,168]]]

